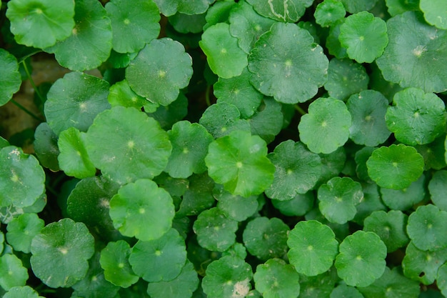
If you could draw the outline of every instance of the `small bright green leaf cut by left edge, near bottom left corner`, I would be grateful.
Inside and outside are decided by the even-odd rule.
[[[0,287],[8,291],[11,287],[24,286],[28,277],[28,270],[15,254],[0,257]]]

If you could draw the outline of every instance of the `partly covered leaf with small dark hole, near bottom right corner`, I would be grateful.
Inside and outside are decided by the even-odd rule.
[[[403,274],[416,280],[416,282],[433,284],[439,267],[446,260],[447,249],[437,250],[436,252],[423,251],[415,247],[413,242],[410,242],[402,260]]]

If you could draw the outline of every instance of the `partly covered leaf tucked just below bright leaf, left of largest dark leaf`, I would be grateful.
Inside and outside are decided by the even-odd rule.
[[[217,104],[221,102],[233,104],[238,108],[243,119],[253,116],[263,99],[263,94],[250,84],[250,76],[250,72],[245,68],[240,76],[233,76],[230,79],[219,77],[219,81],[213,86]]]

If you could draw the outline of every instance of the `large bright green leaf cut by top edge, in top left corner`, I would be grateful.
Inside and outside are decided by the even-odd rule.
[[[44,49],[70,36],[74,10],[74,0],[14,0],[8,2],[6,17],[19,44]]]

